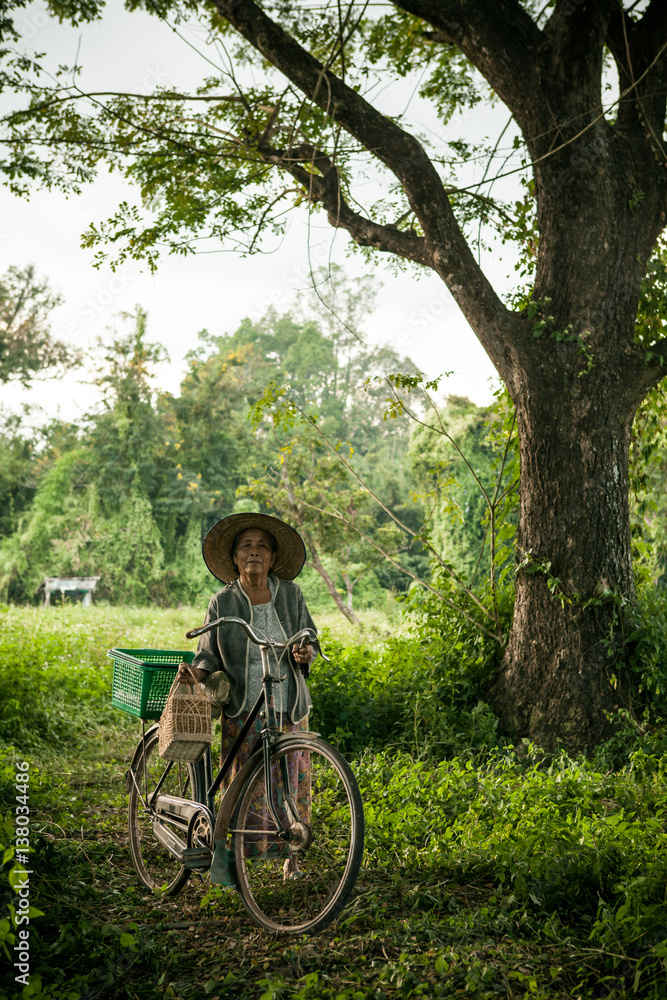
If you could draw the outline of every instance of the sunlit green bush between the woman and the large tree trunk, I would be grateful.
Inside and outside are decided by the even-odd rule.
[[[509,622],[510,595],[503,600]],[[390,744],[418,752],[429,746],[444,756],[496,746],[497,719],[484,695],[501,646],[470,610],[415,590],[405,636],[344,647],[325,629],[332,662],[316,661],[311,674],[312,728],[345,752]],[[481,617],[479,609],[473,613]]]

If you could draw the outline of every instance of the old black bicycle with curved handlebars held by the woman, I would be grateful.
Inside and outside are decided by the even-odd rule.
[[[243,619],[227,617],[186,637],[232,624],[260,647],[260,695],[215,778],[210,748],[196,763],[163,761],[157,724],[144,731],[126,772],[132,861],[147,888],[172,895],[192,872],[210,868],[214,843],[223,842],[236,888],[256,923],[274,932],[316,933],[345,906],[359,872],[364,844],[359,788],[347,761],[318,733],[282,734],[278,728],[270,653],[280,668],[278,651],[306,639],[317,642],[315,635],[302,629],[277,643]],[[260,712],[261,735],[216,811],[216,793]],[[311,794],[297,801],[295,769],[307,764]],[[268,821],[260,824],[264,804]]]

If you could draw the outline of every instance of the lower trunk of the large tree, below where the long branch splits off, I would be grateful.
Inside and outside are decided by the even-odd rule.
[[[628,457],[635,403],[620,371],[571,371],[569,385],[560,368],[560,377],[542,376],[517,399],[516,604],[491,692],[510,733],[550,750],[583,749],[611,735],[621,605],[634,595]]]

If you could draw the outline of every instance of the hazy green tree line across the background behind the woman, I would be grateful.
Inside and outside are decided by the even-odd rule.
[[[126,332],[100,345],[93,412],[36,429],[4,414],[0,600],[39,600],[45,576],[94,575],[98,599],[201,601],[217,586],[203,535],[244,509],[301,532],[309,599],[333,601],[353,622],[360,607],[415,580],[445,577],[478,593],[511,584],[519,458],[509,397],[478,407],[450,396],[437,406],[426,391],[436,384],[408,358],[360,337],[372,283],[334,277],[336,297],[323,281],[291,312],[270,310],[232,334],[202,331],[173,395],[155,386],[166,354],[137,307]],[[51,338],[57,301],[34,267],[0,280],[4,381],[81,363]],[[636,562],[659,583],[663,409],[656,393],[640,414],[631,476]]]

